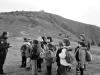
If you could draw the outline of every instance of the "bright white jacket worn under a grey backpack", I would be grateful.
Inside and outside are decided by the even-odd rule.
[[[63,48],[62,49],[62,52],[59,54],[59,57],[60,57],[60,64],[63,65],[63,66],[70,66],[71,64],[67,63],[66,60],[65,60],[65,57],[66,57],[66,49]]]

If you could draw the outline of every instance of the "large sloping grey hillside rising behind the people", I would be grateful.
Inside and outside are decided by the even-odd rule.
[[[54,38],[68,37],[79,40],[85,33],[88,41],[96,45],[100,42],[100,28],[65,19],[61,16],[40,12],[15,11],[0,13],[0,32],[9,31],[14,37],[38,37],[41,35]]]

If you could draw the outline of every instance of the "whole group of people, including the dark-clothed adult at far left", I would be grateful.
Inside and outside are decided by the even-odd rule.
[[[3,65],[6,59],[8,48],[11,47],[7,42],[8,33],[3,32],[0,37],[0,75],[3,72]],[[52,75],[52,64],[57,64],[57,75],[68,75],[71,70],[73,60],[71,54],[74,50],[75,59],[77,61],[76,74],[84,75],[87,64],[87,51],[90,50],[90,44],[86,40],[84,34],[80,35],[78,46],[72,49],[70,40],[64,38],[59,41],[59,46],[53,44],[52,37],[39,37],[38,39],[30,40],[24,38],[23,45],[20,48],[22,56],[22,64],[20,68],[25,68],[26,71],[31,70],[33,75],[38,75],[42,71],[42,63],[45,63],[46,75]]]

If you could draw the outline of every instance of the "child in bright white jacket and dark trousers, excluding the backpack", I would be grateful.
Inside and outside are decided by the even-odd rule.
[[[61,70],[62,70],[62,74],[63,75],[67,75],[67,69],[69,68],[69,66],[71,66],[70,63],[68,63],[66,61],[66,51],[68,50],[67,48],[70,46],[70,41],[65,38],[63,40],[63,49],[62,49],[62,52],[59,54],[59,57],[60,57],[60,64],[61,64]]]

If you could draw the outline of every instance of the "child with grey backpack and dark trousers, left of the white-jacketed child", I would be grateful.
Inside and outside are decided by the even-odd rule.
[[[52,50],[52,44],[50,43],[47,44],[44,59],[46,60],[47,75],[52,75],[51,70],[52,64],[55,62],[55,54]]]

